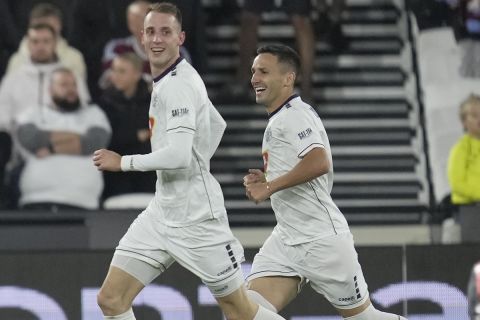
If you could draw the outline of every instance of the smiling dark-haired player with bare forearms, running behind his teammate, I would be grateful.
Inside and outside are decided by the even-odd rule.
[[[264,171],[250,169],[246,194],[270,197],[277,225],[255,256],[250,296],[282,310],[308,280],[349,320],[404,319],[376,310],[358,263],[345,217],[333,202],[332,154],[315,110],[294,94],[300,60],[283,45],[257,50],[251,83],[269,122],[263,138]]]

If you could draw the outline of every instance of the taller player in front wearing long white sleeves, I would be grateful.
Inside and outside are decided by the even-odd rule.
[[[246,294],[243,248],[229,229],[220,185],[209,170],[225,121],[198,73],[180,56],[184,39],[177,7],[153,4],[142,36],[154,79],[152,153],[94,152],[99,170],[157,171],[155,197],[120,240],[99,306],[105,319],[135,319],[135,296],[177,261],[202,279],[227,319],[283,319]]]

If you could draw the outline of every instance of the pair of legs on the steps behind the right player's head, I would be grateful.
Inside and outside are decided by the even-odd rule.
[[[274,10],[274,1],[245,0],[240,18],[239,64],[235,81],[223,88],[218,96],[220,102],[245,101],[251,94],[250,66],[257,49],[258,28],[261,14]],[[306,101],[312,101],[311,77],[314,69],[315,37],[310,20],[312,5],[310,0],[284,0],[282,9],[290,15],[295,29],[298,51],[302,60],[301,93]],[[253,98],[250,99],[253,101]]]

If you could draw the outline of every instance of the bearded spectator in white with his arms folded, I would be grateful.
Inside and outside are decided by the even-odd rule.
[[[102,174],[91,155],[107,146],[110,126],[95,105],[81,103],[76,77],[67,68],[53,71],[46,108],[31,108],[16,119],[16,138],[25,158],[20,179],[24,209],[97,209]]]

